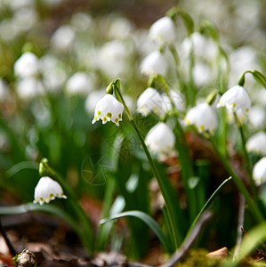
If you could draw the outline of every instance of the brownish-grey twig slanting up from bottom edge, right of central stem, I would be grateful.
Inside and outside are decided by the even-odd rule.
[[[166,263],[160,265],[159,267],[172,267],[176,263],[178,263],[181,258],[186,255],[187,251],[189,250],[189,247],[191,247],[194,240],[197,238],[199,232],[202,230],[203,224],[206,223],[206,221],[208,221],[211,216],[211,212],[204,212],[197,220],[197,223],[195,224],[192,231],[190,231],[188,238],[185,239],[181,244],[181,247],[171,256],[171,258]]]

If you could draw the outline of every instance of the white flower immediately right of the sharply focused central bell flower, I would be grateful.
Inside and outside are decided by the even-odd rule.
[[[137,101],[138,112],[142,116],[146,117],[151,111],[155,112],[157,115],[162,112],[164,99],[154,88],[147,88]]]

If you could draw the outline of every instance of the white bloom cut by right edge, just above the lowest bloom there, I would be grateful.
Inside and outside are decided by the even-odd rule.
[[[259,132],[252,135],[246,142],[246,150],[259,155],[266,155],[266,134]]]

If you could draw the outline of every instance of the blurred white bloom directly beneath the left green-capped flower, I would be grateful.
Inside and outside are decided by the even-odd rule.
[[[28,77],[20,80],[16,92],[21,100],[29,101],[44,94],[44,85],[35,77]]]

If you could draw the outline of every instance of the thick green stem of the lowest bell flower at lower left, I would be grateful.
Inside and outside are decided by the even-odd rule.
[[[73,210],[76,212],[78,218],[80,219],[82,226],[84,227],[85,238],[83,239],[83,241],[85,242],[85,248],[87,249],[88,253],[91,253],[93,251],[93,225],[88,216],[85,214],[84,209],[80,206],[74,191],[62,179],[60,174],[57,174],[52,170],[50,166],[48,166],[48,160],[46,158],[43,158],[40,163],[40,175],[51,175],[54,179],[60,182],[60,184],[64,188],[69,198],[69,203],[71,204]]]

